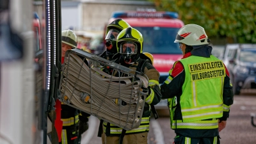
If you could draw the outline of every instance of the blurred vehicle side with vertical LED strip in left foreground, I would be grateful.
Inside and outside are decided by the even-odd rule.
[[[60,3],[0,3],[1,144],[49,143],[61,68]]]

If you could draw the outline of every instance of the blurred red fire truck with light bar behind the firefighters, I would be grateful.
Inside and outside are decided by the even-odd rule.
[[[163,83],[173,63],[182,58],[179,44],[173,43],[177,32],[184,26],[175,12],[127,11],[113,12],[109,23],[121,18],[143,35],[143,52],[154,57],[154,67],[160,72],[159,83]]]

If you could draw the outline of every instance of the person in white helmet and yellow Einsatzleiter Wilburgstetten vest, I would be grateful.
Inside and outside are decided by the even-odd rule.
[[[176,61],[161,85],[168,99],[174,143],[220,143],[233,104],[232,84],[224,63],[211,54],[204,28],[188,24],[179,29],[183,58]]]

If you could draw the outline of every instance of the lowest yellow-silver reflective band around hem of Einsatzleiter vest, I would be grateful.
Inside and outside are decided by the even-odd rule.
[[[199,120],[195,122],[182,122],[182,120],[173,120],[172,129],[216,129],[218,120]]]

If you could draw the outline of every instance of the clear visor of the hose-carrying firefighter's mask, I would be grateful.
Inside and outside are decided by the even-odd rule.
[[[122,44],[120,44],[120,54],[132,55],[136,54],[137,50],[137,44],[134,42],[122,42]]]

